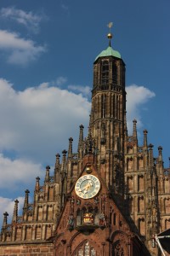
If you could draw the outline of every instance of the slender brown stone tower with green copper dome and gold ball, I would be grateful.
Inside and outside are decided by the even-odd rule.
[[[110,26],[111,27],[111,26]],[[120,202],[123,200],[124,141],[126,137],[125,64],[109,46],[94,61],[90,128],[96,147],[97,169]]]

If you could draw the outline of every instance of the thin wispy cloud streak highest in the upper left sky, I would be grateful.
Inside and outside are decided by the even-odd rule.
[[[15,9],[14,7],[2,8],[0,10],[0,17],[3,19],[13,20],[20,25],[26,26],[31,32],[39,32],[39,26],[44,15],[35,15],[32,12],[26,12],[22,9]]]

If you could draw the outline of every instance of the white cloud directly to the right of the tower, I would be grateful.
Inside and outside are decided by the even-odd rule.
[[[141,105],[156,96],[155,93],[144,86],[132,84],[127,86],[127,127],[132,131],[133,119],[137,119],[138,127],[142,126]]]

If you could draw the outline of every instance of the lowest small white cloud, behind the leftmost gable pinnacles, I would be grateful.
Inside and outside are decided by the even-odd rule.
[[[24,204],[24,197],[18,197],[16,198],[19,201],[18,209],[19,209],[19,214],[21,213],[20,210],[23,207]],[[3,213],[8,212],[8,224],[10,224],[11,218],[13,216],[14,212],[14,199],[11,198],[5,198],[0,196],[0,227],[3,224]]]

